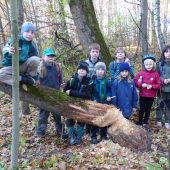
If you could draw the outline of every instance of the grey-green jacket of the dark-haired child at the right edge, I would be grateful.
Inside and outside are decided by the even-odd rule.
[[[160,75],[162,88],[161,90],[158,91],[157,95],[163,100],[165,100],[166,98],[170,99],[170,83],[168,84],[163,83],[165,79],[170,79],[170,61],[165,61],[164,66],[159,66],[159,65],[160,64],[158,62],[156,66],[156,71]]]

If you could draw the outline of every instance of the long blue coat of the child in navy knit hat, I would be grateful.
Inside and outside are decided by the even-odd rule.
[[[138,95],[136,86],[132,80],[130,83],[126,79],[119,83],[119,79],[115,79],[112,83],[112,98],[111,103],[122,111],[124,117],[129,117],[132,113],[132,108],[138,108]]]

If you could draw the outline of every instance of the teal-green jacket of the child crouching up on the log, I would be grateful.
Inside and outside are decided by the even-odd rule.
[[[32,41],[27,41],[22,35],[18,36],[19,39],[19,65],[23,64],[29,57],[37,56],[37,47]],[[10,44],[12,43],[12,38],[4,46],[3,60],[1,61],[2,66],[12,66],[12,56],[9,54]]]

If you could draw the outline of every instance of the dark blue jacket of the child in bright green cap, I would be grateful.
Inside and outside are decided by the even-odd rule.
[[[49,66],[44,61],[44,64],[46,67],[46,77],[40,78],[40,83],[44,86],[60,90],[60,85],[62,84],[62,74],[58,76],[57,69],[54,63],[52,66]]]

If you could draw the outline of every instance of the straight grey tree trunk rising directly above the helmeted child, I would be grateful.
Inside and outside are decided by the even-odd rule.
[[[148,54],[148,40],[147,40],[147,16],[148,16],[148,1],[143,0],[142,3],[142,55]]]

